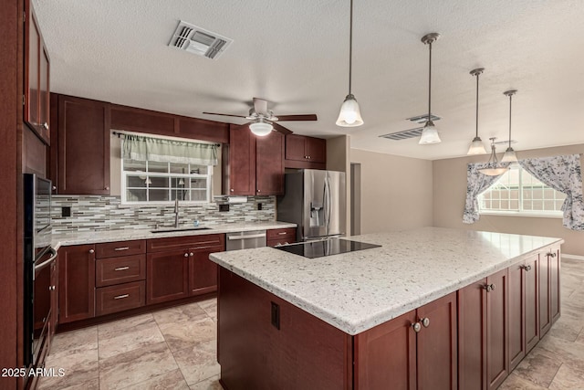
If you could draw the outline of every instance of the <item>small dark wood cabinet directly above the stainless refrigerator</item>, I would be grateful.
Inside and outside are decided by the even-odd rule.
[[[287,168],[325,169],[327,140],[287,134],[285,164]]]

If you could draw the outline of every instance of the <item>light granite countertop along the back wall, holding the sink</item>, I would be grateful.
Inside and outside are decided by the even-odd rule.
[[[184,226],[188,228],[188,226]],[[225,224],[202,224],[200,227],[210,227],[202,230],[172,231],[168,233],[152,233],[153,229],[116,229],[90,232],[71,232],[53,234],[53,248],[69,245],[97,244],[100,242],[129,241],[132,239],[151,239],[162,237],[199,236],[208,234],[233,233],[249,230],[266,230],[283,227],[297,227],[287,222],[235,222]],[[172,227],[169,227],[172,228]]]

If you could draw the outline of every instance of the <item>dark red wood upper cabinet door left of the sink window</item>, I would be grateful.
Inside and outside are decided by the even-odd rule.
[[[110,195],[110,104],[58,97],[59,195]]]

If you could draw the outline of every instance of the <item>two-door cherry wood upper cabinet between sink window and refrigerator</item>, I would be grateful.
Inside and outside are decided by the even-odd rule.
[[[246,125],[231,125],[224,193],[229,195],[284,194],[284,135],[259,137]],[[225,159],[224,159],[225,160]]]

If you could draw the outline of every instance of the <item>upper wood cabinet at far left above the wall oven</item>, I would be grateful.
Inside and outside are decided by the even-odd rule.
[[[24,120],[47,144],[49,132],[50,60],[36,22],[31,1],[25,2],[25,93]]]

